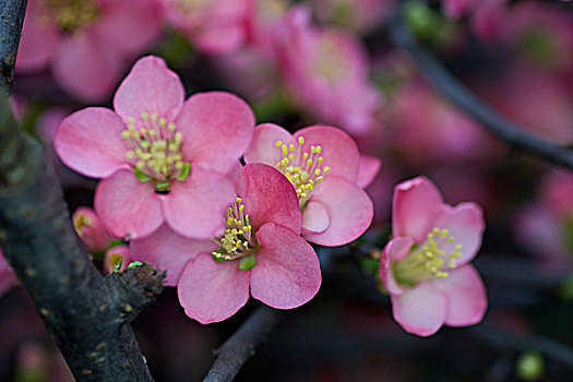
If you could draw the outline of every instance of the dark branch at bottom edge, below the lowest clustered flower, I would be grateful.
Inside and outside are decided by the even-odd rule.
[[[254,355],[284,313],[266,306],[258,308],[215,354],[217,359],[203,382],[232,381],[244,362]]]

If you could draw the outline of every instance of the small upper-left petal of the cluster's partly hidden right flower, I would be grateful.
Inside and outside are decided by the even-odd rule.
[[[276,166],[279,160],[275,143],[295,143],[288,131],[274,123],[262,123],[254,129],[253,140],[244,153],[244,163],[265,163]],[[282,157],[280,157],[282,158]]]

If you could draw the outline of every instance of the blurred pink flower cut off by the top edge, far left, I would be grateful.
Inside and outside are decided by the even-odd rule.
[[[17,71],[47,67],[83,100],[105,99],[130,61],[160,33],[155,0],[31,0]]]

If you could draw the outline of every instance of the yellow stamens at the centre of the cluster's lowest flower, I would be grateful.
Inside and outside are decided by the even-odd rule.
[[[211,238],[220,247],[219,250],[212,252],[213,259],[217,262],[240,260],[239,270],[252,270],[256,265],[254,251],[259,242],[252,235],[251,222],[249,215],[244,214],[244,204],[240,198],[237,198],[227,210],[227,217],[223,223],[225,235],[220,238]]]

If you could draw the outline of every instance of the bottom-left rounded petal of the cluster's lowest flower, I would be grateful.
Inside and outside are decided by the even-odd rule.
[[[223,321],[247,303],[250,274],[240,271],[237,261],[217,263],[211,254],[201,254],[181,273],[179,302],[202,324]]]

